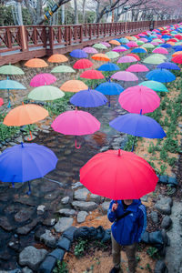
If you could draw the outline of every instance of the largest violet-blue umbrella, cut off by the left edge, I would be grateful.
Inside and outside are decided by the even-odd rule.
[[[0,180],[3,182],[28,181],[44,177],[56,168],[57,157],[52,150],[35,143],[8,147],[0,155]]]

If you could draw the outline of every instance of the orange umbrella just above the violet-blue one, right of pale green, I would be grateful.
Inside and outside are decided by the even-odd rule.
[[[60,89],[65,92],[78,92],[80,90],[87,90],[88,86],[84,82],[79,80],[69,80],[66,81]]]

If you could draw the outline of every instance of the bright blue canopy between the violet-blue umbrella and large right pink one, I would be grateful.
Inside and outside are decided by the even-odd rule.
[[[111,83],[110,81],[100,84],[96,87],[96,90],[104,95],[113,96],[119,95],[124,91],[124,88],[116,83]]]

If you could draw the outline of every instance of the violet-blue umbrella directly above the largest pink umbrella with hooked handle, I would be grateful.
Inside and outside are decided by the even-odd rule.
[[[107,103],[107,98],[102,93],[88,89],[77,92],[70,98],[70,103],[74,106],[96,107]]]

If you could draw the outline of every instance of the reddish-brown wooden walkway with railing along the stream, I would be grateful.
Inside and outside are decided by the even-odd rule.
[[[0,66],[33,57],[65,54],[76,48],[125,35],[136,35],[180,20],[140,21],[83,25],[0,26]]]

